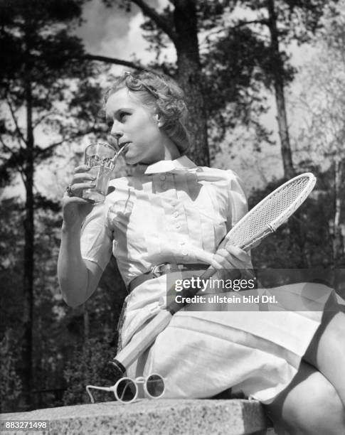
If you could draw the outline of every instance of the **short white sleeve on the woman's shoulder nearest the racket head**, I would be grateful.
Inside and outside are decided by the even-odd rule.
[[[245,195],[243,182],[240,180],[235,172],[229,170],[227,171],[227,173],[229,176],[228,216],[230,218],[229,220],[231,223],[231,227],[233,227],[248,212],[248,203],[247,196]]]

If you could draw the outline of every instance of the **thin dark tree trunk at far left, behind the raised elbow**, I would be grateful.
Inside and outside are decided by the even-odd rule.
[[[31,82],[27,77],[25,83],[26,95],[26,161],[24,180],[26,188],[24,226],[24,270],[23,270],[23,347],[22,347],[22,382],[26,395],[26,405],[31,404],[31,381],[33,380],[32,361],[32,322],[33,322],[33,125],[32,125],[32,93]]]

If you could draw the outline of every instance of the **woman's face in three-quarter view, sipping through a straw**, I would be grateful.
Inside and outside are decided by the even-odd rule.
[[[110,134],[125,145],[122,156],[127,163],[152,164],[164,159],[164,145],[156,114],[132,97],[127,88],[110,95],[105,104]]]

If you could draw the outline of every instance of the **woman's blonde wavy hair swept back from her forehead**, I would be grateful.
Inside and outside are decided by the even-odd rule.
[[[191,144],[191,134],[186,128],[189,112],[181,87],[166,75],[152,71],[126,71],[107,90],[105,102],[110,95],[124,87],[135,92],[144,107],[161,116],[161,128],[176,144],[181,155],[186,154]]]

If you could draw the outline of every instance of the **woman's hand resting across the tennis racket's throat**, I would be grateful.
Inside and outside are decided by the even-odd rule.
[[[215,269],[248,269],[252,267],[252,263],[250,254],[225,243],[213,254],[211,266]]]

